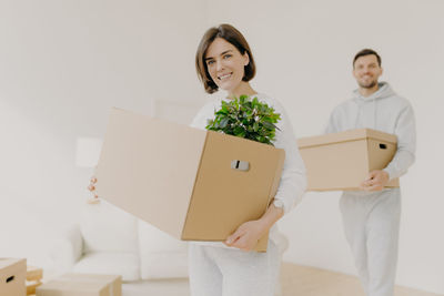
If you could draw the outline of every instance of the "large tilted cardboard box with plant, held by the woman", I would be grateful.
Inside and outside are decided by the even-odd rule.
[[[111,111],[95,171],[101,198],[184,241],[225,241],[275,195],[284,150]],[[265,251],[268,235],[256,246]]]

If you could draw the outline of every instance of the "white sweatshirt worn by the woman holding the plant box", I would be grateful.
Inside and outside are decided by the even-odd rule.
[[[285,150],[285,162],[274,198],[283,202],[284,213],[287,213],[302,200],[302,195],[305,192],[305,165],[299,153],[293,127],[283,106],[276,100],[270,99],[264,94],[252,95],[252,98],[254,96],[258,96],[259,101],[265,102],[274,108],[276,113],[281,114],[281,120],[276,124],[280,130],[276,130],[276,141],[273,144],[278,149]],[[214,119],[214,111],[221,109],[222,100],[226,99],[214,99],[206,103],[194,116],[191,126],[205,130],[208,121]],[[273,239],[273,229],[270,232],[270,237]]]

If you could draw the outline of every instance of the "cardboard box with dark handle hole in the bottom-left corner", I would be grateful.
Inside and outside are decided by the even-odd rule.
[[[0,258],[0,296],[27,294],[27,259]]]

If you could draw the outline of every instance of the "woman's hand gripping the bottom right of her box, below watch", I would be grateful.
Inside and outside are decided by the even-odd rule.
[[[284,215],[281,207],[271,204],[260,220],[253,220],[241,224],[238,229],[225,239],[225,245],[243,251],[252,251],[258,241]]]

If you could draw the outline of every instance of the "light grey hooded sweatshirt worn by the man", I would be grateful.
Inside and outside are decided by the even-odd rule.
[[[384,169],[392,180],[405,174],[415,160],[415,118],[408,101],[398,96],[389,83],[379,85],[380,89],[366,98],[355,90],[351,100],[336,106],[326,133],[366,127],[395,134],[397,151]]]

